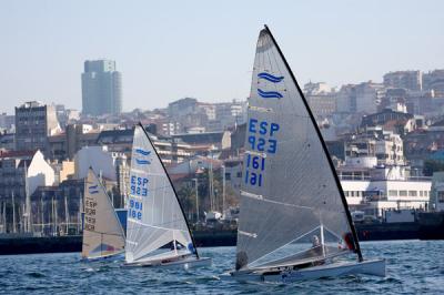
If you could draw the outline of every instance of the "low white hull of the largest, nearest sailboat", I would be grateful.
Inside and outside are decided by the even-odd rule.
[[[316,279],[321,277],[339,277],[359,274],[385,276],[385,260],[372,260],[360,263],[335,262],[327,265],[292,271],[240,271],[231,273],[231,278],[236,281],[291,283],[303,279]]]

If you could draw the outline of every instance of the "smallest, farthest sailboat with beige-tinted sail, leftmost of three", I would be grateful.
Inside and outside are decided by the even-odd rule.
[[[124,232],[103,185],[92,169],[84,184],[82,258],[123,258]]]

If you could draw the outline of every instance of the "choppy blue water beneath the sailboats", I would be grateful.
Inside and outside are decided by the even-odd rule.
[[[387,261],[385,278],[347,276],[293,283],[238,283],[219,276],[233,267],[234,247],[200,248],[213,266],[195,272],[122,268],[82,263],[80,254],[0,256],[0,293],[67,294],[444,294],[444,242],[362,243],[365,257]]]

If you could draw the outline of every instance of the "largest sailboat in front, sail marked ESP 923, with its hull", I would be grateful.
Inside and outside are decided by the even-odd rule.
[[[266,26],[256,47],[244,146],[231,278],[385,275],[384,260],[362,257],[326,145]]]

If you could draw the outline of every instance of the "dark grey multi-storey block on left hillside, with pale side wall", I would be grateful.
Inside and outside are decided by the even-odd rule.
[[[49,155],[49,136],[60,132],[56,108],[37,101],[16,108],[16,150]]]

